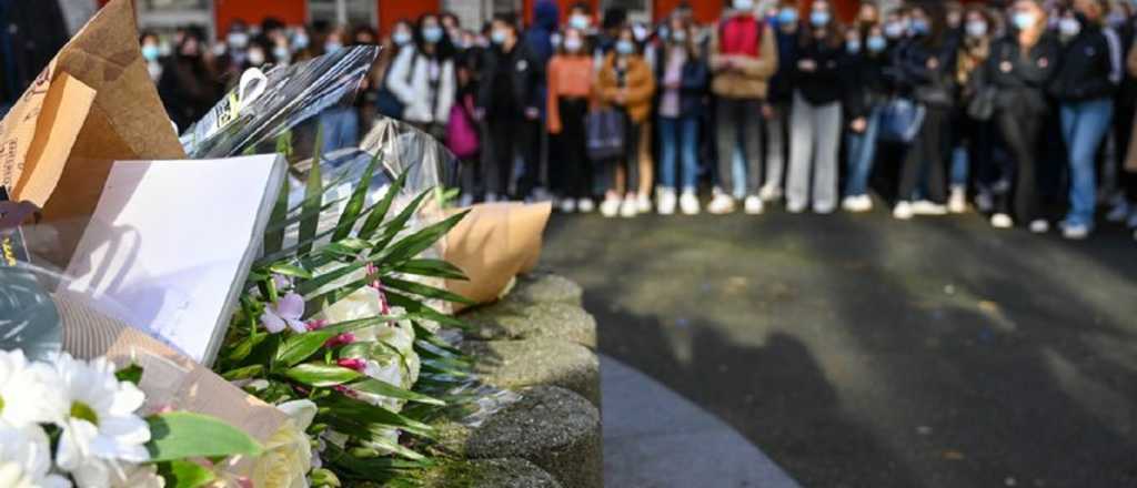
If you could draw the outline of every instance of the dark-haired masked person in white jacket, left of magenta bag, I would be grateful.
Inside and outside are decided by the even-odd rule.
[[[450,37],[438,16],[423,15],[415,44],[399,51],[387,78],[388,89],[402,103],[402,119],[445,140],[456,82]]]

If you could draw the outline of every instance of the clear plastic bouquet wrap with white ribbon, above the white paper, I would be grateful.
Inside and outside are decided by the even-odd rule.
[[[239,155],[255,150],[354,94],[379,48],[354,47],[308,61],[250,69],[238,87],[182,135],[191,159]]]

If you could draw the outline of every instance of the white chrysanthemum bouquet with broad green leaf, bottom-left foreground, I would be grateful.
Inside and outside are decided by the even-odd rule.
[[[202,487],[264,447],[217,419],[144,412],[141,369],[0,351],[0,486]]]

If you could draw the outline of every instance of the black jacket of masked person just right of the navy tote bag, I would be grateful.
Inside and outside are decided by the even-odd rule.
[[[899,71],[902,90],[916,101],[931,107],[952,108],[955,104],[954,37],[945,36],[938,45],[912,39],[896,48],[894,62]],[[937,66],[928,67],[935,58]]]

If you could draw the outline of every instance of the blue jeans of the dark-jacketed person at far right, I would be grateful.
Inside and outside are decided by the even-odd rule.
[[[1113,118],[1113,100],[1098,99],[1063,103],[1062,137],[1065,138],[1070,161],[1070,226],[1094,226],[1097,205],[1095,161],[1102,137]]]

